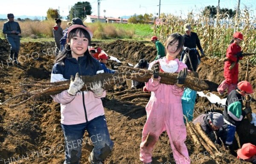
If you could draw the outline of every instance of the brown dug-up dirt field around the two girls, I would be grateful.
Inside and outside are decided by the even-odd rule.
[[[156,54],[153,46],[145,46],[142,42],[127,42],[116,40],[104,44],[93,42],[93,46],[100,46],[109,55],[117,57],[124,65],[128,62],[136,64],[139,59],[145,58],[151,62]],[[25,89],[19,82],[24,78],[49,82],[55,57],[53,56],[53,42],[22,43],[20,48],[21,65],[7,63],[9,44],[0,40],[0,101],[20,93]],[[53,48],[53,49],[52,49]],[[109,61],[109,67],[116,62]],[[244,80],[246,64],[239,66],[239,80]],[[218,59],[202,59],[198,68],[199,77],[210,81],[210,90],[217,93],[218,84],[224,79],[223,63]],[[250,65],[249,81],[256,89],[256,67]],[[143,125],[146,121],[145,105],[148,97],[136,99],[121,99],[124,95],[143,93],[141,90],[126,90],[129,82],[108,90],[108,95],[102,101],[105,115],[114,148],[104,164],[140,164],[140,141]],[[122,92],[122,90],[126,90]],[[222,97],[224,98],[224,97]],[[121,100],[120,100],[121,99]],[[22,100],[20,100],[22,101]],[[255,102],[251,103],[256,113]],[[222,110],[211,105],[206,98],[197,97],[194,117],[207,110]],[[64,161],[64,137],[60,126],[60,105],[50,97],[36,99],[18,107],[10,108],[0,105],[0,164],[62,164]],[[256,127],[244,119],[237,131],[237,150],[241,144],[251,142],[256,144]],[[240,143],[240,144],[239,144]],[[192,164],[241,164],[235,156],[221,150],[221,156],[215,159],[209,156],[206,150],[196,147],[187,136],[186,145]],[[220,148],[220,147],[219,147]],[[84,136],[81,164],[88,164],[88,156],[93,149],[88,135]],[[220,148],[221,149],[221,148]],[[160,136],[154,147],[154,164],[175,164],[169,139],[166,133]],[[245,163],[245,162],[244,162]]]

